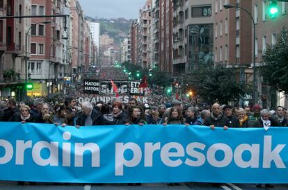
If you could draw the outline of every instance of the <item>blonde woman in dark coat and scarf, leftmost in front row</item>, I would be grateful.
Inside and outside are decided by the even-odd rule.
[[[30,114],[30,107],[28,105],[22,105],[20,107],[20,112],[16,112],[10,117],[9,121],[12,122],[22,122],[22,123],[34,123],[35,118]]]

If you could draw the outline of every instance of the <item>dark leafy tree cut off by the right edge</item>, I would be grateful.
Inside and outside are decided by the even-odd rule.
[[[288,30],[278,34],[277,44],[267,46],[262,56],[260,74],[268,85],[288,94]]]

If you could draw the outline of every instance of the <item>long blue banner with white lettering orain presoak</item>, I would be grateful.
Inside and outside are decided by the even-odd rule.
[[[288,128],[0,126],[0,180],[288,183]]]

